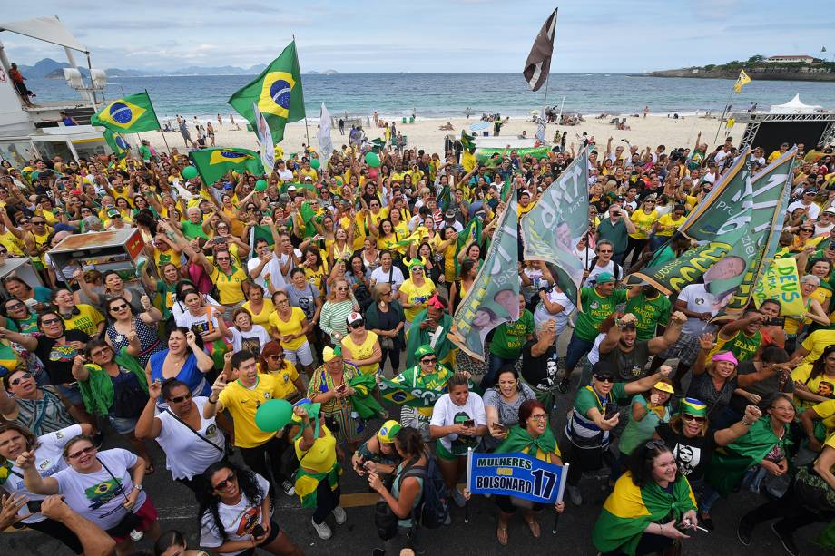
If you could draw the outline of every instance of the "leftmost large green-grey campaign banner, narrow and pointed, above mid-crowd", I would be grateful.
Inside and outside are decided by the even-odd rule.
[[[461,299],[452,317],[452,330],[447,338],[467,355],[484,361],[487,333],[505,322],[519,318],[518,212],[516,192],[499,217],[496,233],[473,286]]]

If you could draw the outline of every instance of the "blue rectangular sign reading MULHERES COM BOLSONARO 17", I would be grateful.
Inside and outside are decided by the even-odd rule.
[[[467,454],[467,491],[473,494],[505,494],[532,502],[563,500],[568,465],[555,465],[521,452]]]

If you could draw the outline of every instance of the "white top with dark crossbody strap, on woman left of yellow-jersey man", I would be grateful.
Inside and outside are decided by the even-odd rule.
[[[208,442],[198,438],[197,434],[168,411],[162,411],[156,416],[162,423],[162,430],[156,441],[165,452],[165,467],[171,471],[174,479],[192,479],[194,475],[203,473],[212,463],[223,459],[226,439],[215,424],[214,417],[203,418],[203,406],[207,404],[208,399],[204,396],[192,398],[192,404],[197,406],[201,419],[197,432],[221,450],[212,448]]]

